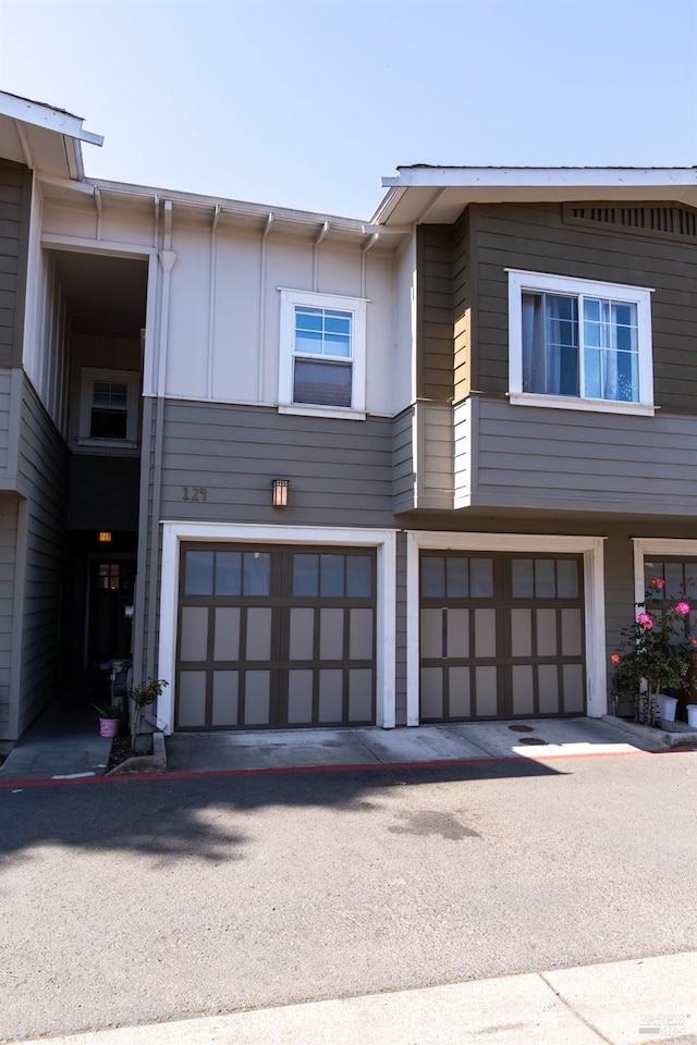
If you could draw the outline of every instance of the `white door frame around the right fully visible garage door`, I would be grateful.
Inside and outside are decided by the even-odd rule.
[[[584,556],[586,628],[586,714],[608,714],[603,537],[540,533],[452,533],[412,530],[406,534],[406,724],[419,725],[419,553],[421,549],[463,552],[555,552]]]

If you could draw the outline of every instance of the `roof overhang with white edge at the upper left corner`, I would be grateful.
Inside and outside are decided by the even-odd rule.
[[[0,91],[0,156],[35,171],[81,181],[81,143],[103,138],[83,130],[83,120],[62,109]]]

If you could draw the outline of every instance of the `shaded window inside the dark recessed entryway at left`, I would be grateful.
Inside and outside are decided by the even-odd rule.
[[[81,446],[138,445],[139,374],[133,370],[99,370],[83,367],[80,389]]]

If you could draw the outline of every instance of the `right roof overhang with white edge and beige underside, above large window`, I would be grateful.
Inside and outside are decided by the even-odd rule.
[[[378,225],[450,224],[468,204],[674,200],[697,208],[697,169],[400,167]]]

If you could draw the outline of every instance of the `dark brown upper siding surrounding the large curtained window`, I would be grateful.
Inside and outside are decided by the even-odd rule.
[[[697,239],[643,236],[602,222],[580,225],[564,221],[563,213],[561,204],[470,208],[477,259],[478,390],[499,395],[509,391],[505,269],[524,269],[652,287],[655,402],[663,410],[697,413]]]

